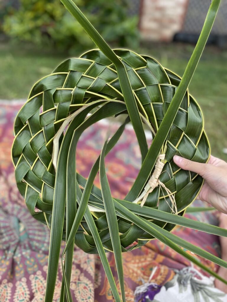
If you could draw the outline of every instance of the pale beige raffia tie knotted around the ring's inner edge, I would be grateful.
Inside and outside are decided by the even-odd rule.
[[[158,156],[158,159],[156,161],[156,164],[155,164],[155,169],[154,169],[154,172],[151,176],[151,178],[149,179],[149,181],[147,182],[145,188],[144,188],[144,191],[143,193],[136,199],[134,200],[133,202],[134,203],[138,203],[142,198],[142,202],[141,202],[141,207],[143,207],[143,205],[145,204],[145,201],[148,197],[148,195],[158,186],[160,185],[160,187],[162,187],[166,192],[167,192],[167,195],[172,203],[172,207],[171,209],[173,210],[173,213],[174,214],[177,214],[177,207],[176,207],[176,201],[175,201],[175,197],[174,197],[174,194],[168,189],[166,188],[166,186],[163,184],[163,182],[161,182],[159,180],[159,176],[160,174],[162,173],[162,170],[163,170],[163,167],[165,165],[164,163],[164,159],[165,159],[165,154],[160,154]],[[165,199],[165,198],[164,198]],[[166,199],[165,199],[166,200]],[[167,202],[167,201],[166,201]]]

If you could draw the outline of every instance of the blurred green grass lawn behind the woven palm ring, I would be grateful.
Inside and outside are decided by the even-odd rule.
[[[155,45],[137,50],[158,59],[160,63],[183,75],[193,51],[192,46]],[[75,53],[74,56],[77,56]],[[0,46],[0,99],[27,98],[34,82],[51,73],[55,66],[68,57],[23,46]],[[212,154],[227,160],[227,52],[206,47],[192,82],[190,93],[199,102],[205,119],[205,130]]]

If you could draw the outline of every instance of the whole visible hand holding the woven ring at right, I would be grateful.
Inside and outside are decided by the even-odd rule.
[[[202,164],[175,155],[173,161],[181,169],[195,172],[205,179],[198,198],[227,214],[227,163],[214,156]]]

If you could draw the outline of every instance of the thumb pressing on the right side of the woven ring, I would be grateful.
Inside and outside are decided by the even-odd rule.
[[[200,162],[193,162],[192,160],[183,158],[183,157],[178,156],[178,155],[173,156],[173,161],[181,169],[195,172],[195,173],[197,173],[201,176],[204,176],[204,174],[207,171],[207,164],[202,164]]]

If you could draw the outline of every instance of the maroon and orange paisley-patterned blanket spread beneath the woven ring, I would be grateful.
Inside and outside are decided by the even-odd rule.
[[[15,184],[11,162],[13,121],[21,104],[0,104],[0,301],[44,301],[50,231],[28,212]],[[111,130],[117,129],[112,125]],[[109,126],[99,122],[87,129],[78,144],[77,167],[85,177],[100,154]],[[151,140],[148,143],[151,143]],[[107,155],[107,176],[112,195],[123,198],[129,191],[140,169],[140,151],[134,131],[127,128],[118,144]],[[98,178],[95,181],[99,185]],[[196,204],[197,203],[197,204]],[[201,206],[199,202],[195,202]],[[187,215],[194,220],[218,223],[217,212]],[[176,227],[175,234],[219,256],[219,239],[184,227]],[[61,251],[63,251],[62,243]],[[189,252],[190,253],[190,252]],[[208,260],[200,261],[214,271],[218,266]],[[114,256],[108,253],[110,267],[117,281]],[[173,279],[174,269],[192,264],[158,240],[123,253],[123,269],[127,301],[134,301],[134,290],[147,282],[156,267],[152,282],[163,285]],[[203,273],[205,274],[205,273]],[[61,260],[53,301],[59,301],[61,291]],[[75,302],[114,301],[98,255],[86,254],[75,246],[71,276],[71,293]],[[118,284],[119,291],[120,286]]]

